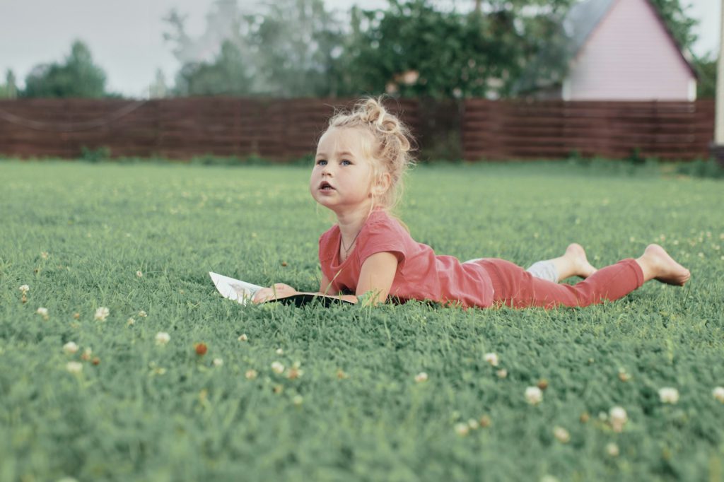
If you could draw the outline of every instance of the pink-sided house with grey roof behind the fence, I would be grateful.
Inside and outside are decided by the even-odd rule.
[[[519,93],[564,101],[696,99],[690,54],[650,0],[585,0],[571,7],[563,28],[568,41],[563,80],[542,83],[537,72],[545,60],[539,60],[522,77]]]

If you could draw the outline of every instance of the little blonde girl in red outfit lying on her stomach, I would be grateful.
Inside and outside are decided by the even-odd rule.
[[[321,294],[353,303],[367,295],[369,303],[432,300],[463,307],[553,308],[618,300],[649,279],[680,286],[689,280],[689,270],[659,245],[599,270],[576,244],[529,271],[497,258],[460,263],[435,255],[388,212],[412,162],[410,139],[400,120],[374,99],[329,120],[309,182],[312,197],[337,215],[337,224],[319,238]],[[573,275],[586,279],[574,286],[557,283]],[[295,293],[275,284],[261,289],[254,302]]]

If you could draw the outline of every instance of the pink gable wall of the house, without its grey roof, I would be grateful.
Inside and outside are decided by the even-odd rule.
[[[563,98],[693,101],[696,79],[647,0],[615,0],[573,60]]]

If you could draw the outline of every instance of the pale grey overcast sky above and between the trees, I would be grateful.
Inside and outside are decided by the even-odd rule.
[[[254,0],[238,0],[243,6]],[[470,0],[471,2],[473,0]],[[688,13],[699,20],[694,54],[717,51],[720,5],[724,0],[691,2]],[[172,8],[188,15],[190,35],[206,27],[205,15],[214,0],[0,0],[0,81],[12,69],[19,85],[36,64],[61,62],[74,39],[90,46],[96,64],[108,76],[107,88],[126,96],[146,97],[156,69],[173,82],[179,62],[164,42]],[[327,0],[327,6],[346,12],[353,4],[364,8],[387,5],[386,0]]]

